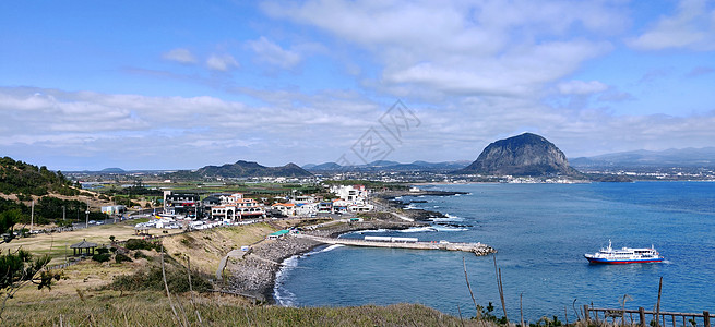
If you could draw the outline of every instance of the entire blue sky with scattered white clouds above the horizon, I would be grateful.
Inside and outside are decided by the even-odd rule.
[[[714,86],[715,1],[0,3],[1,155],[50,169],[704,147]]]

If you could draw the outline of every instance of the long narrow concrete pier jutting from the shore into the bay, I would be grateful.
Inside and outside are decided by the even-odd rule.
[[[371,247],[397,247],[397,249],[417,249],[417,250],[446,250],[472,252],[475,255],[488,255],[497,253],[493,247],[481,243],[451,243],[451,242],[380,242],[366,241],[356,239],[334,239],[314,237],[309,234],[293,234],[296,238],[310,239],[325,244],[343,244],[351,246],[371,246]]]

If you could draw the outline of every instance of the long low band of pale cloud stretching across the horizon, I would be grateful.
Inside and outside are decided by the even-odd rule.
[[[0,145],[20,159],[40,152],[53,158],[53,169],[86,169],[87,160],[116,164],[96,168],[144,169],[198,168],[238,159],[266,165],[322,162],[349,153],[369,128],[381,129],[378,119],[392,105],[366,100],[357,92],[243,93],[267,105],[208,96],[0,87]],[[400,146],[394,143],[390,159],[401,161],[474,159],[488,143],[523,131],[543,134],[568,156],[658,145],[706,146],[715,137],[715,112],[615,116],[492,96],[453,98],[439,107],[405,105],[421,125],[404,133]]]

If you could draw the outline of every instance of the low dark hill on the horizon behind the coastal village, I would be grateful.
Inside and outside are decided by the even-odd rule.
[[[238,160],[236,164],[206,166],[195,171],[201,177],[251,178],[251,177],[311,177],[312,173],[296,164],[281,167],[265,167],[254,161]]]

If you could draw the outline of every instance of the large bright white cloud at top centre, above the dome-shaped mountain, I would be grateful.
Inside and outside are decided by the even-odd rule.
[[[314,0],[263,9],[367,49],[383,65],[372,85],[396,95],[538,92],[609,51],[601,35],[628,21],[603,2]],[[573,27],[591,39],[573,37]]]

